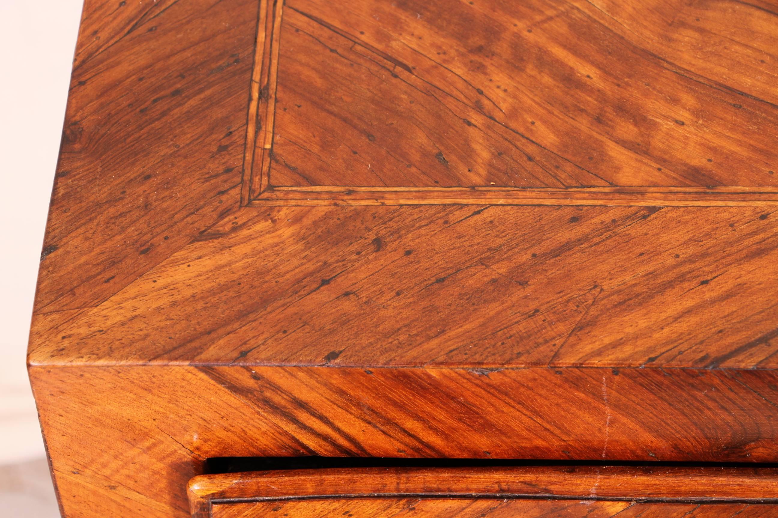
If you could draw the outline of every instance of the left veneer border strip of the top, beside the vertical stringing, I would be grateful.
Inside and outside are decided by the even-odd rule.
[[[86,1],[37,313],[99,304],[237,209],[257,12]]]

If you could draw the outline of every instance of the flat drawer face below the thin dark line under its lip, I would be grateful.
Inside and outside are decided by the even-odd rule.
[[[745,503],[657,503],[567,499],[321,499],[216,504],[213,518],[767,518],[778,506]]]

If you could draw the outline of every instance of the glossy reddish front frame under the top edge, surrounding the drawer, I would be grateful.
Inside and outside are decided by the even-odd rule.
[[[30,376],[68,518],[188,516],[187,481],[209,457],[760,462],[778,454],[778,380],[766,371],[86,366],[33,367]],[[580,490],[596,481],[595,468],[569,483]],[[739,480],[733,472],[716,478],[721,485],[710,475],[689,485],[687,475],[675,487],[696,487],[697,497],[721,496]],[[622,490],[618,478],[601,484]],[[321,489],[321,479],[309,487]],[[661,481],[638,487],[650,492]]]

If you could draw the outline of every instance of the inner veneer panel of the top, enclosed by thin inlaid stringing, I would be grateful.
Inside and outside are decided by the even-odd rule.
[[[457,187],[491,186],[518,189],[478,200],[778,200],[762,5],[289,0],[277,16],[256,204],[463,203]]]

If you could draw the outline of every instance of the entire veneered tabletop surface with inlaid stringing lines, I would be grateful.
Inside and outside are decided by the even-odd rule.
[[[30,362],[778,367],[776,11],[87,0]]]

